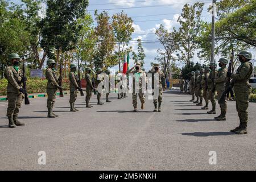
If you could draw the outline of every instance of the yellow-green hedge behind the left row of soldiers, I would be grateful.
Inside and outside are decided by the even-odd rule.
[[[27,80],[27,92],[28,93],[45,93],[46,92],[46,79],[41,78],[28,78]],[[6,86],[7,80],[0,80],[0,96],[6,96]],[[69,80],[67,78],[63,79],[63,88],[64,90],[69,89]]]

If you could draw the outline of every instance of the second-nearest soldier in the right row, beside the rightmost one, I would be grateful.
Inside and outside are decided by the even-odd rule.
[[[218,117],[215,117],[217,121],[226,121],[226,110],[227,110],[227,104],[226,101],[224,103],[220,103],[220,98],[222,94],[225,92],[225,85],[226,85],[226,73],[228,73],[228,68],[226,68],[226,65],[229,63],[228,59],[221,57],[221,59],[218,61],[218,66],[220,69],[218,69],[218,73],[215,78],[216,82],[216,91],[218,95],[218,104],[220,104],[221,108],[221,114]]]

